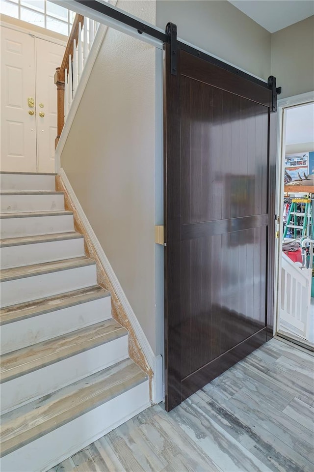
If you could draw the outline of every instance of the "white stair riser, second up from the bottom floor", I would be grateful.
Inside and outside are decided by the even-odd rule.
[[[128,336],[73,355],[1,384],[1,413],[48,395],[88,375],[126,359]]]

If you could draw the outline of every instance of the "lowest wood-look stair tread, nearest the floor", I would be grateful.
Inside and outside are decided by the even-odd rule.
[[[57,429],[147,380],[126,359],[1,416],[1,456]]]

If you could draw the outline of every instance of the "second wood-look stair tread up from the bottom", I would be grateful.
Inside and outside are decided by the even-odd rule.
[[[1,355],[1,383],[79,354],[114,339],[128,331],[112,318],[101,323],[42,341]]]

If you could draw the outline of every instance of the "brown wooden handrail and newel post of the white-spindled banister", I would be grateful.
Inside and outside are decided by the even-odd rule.
[[[78,44],[78,24],[81,24],[83,28],[84,17],[76,14],[70,36],[65,48],[64,56],[61,62],[61,66],[57,67],[54,74],[54,83],[57,86],[57,137],[54,141],[55,148],[60,139],[61,131],[64,126],[64,81],[65,81],[65,69],[69,70],[69,55],[73,58],[73,43],[74,40]]]

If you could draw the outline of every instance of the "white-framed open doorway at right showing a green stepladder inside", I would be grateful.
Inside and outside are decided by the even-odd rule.
[[[275,333],[314,350],[314,94],[281,102]]]

